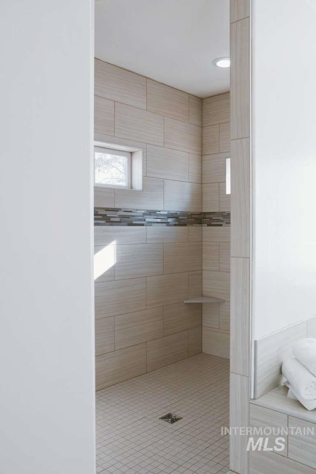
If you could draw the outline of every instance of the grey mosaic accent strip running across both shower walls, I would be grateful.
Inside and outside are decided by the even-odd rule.
[[[95,226],[229,226],[230,212],[184,212],[95,207]]]

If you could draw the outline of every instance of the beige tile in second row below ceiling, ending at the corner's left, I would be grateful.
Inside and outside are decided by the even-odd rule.
[[[202,129],[174,118],[164,118],[164,146],[184,152],[202,154]]]

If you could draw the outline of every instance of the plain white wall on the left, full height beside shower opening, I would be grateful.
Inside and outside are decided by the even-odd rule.
[[[0,472],[94,473],[91,0],[0,15]]]

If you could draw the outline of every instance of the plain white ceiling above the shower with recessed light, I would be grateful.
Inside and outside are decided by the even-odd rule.
[[[229,0],[98,0],[95,56],[199,97],[229,90]]]

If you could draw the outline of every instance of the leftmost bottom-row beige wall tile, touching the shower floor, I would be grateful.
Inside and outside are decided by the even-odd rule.
[[[95,358],[96,390],[146,372],[146,344],[120,349]]]

